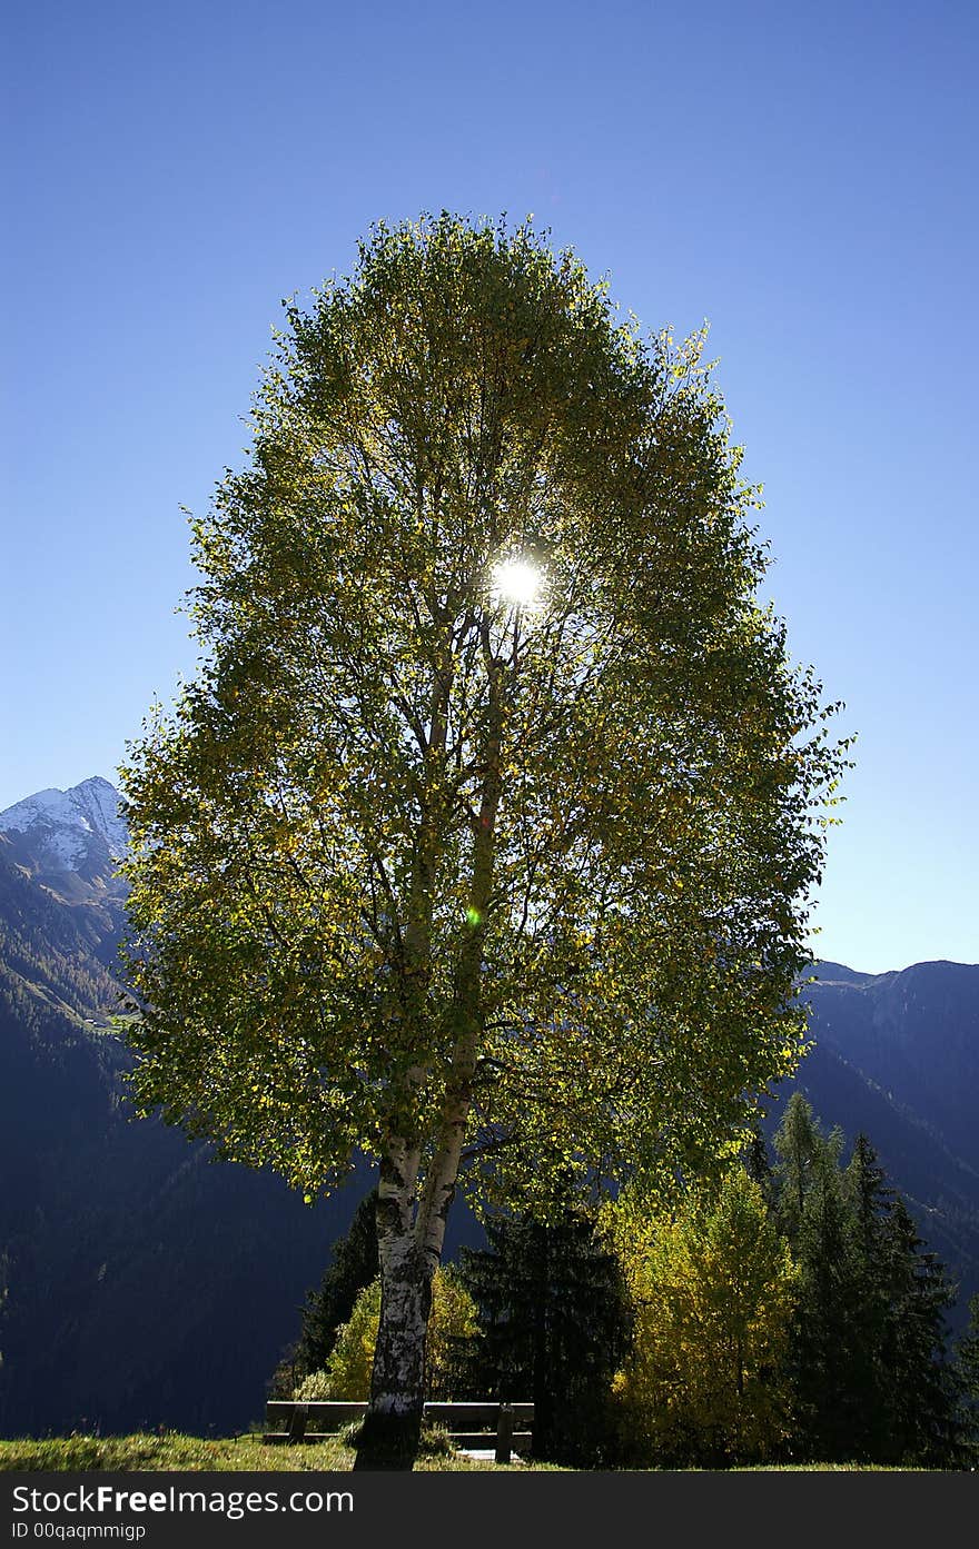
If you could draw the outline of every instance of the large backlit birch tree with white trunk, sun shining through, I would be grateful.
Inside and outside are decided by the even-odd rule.
[[[795,1064],[840,774],[703,338],[530,226],[376,226],[194,522],[122,771],[139,1108],[313,1200],[378,1165],[362,1458],[410,1458],[459,1185],[691,1165]]]

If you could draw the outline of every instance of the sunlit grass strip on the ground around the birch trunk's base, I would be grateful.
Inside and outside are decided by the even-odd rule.
[[[178,1431],[133,1436],[22,1436],[0,1441],[0,1472],[107,1473],[342,1473],[353,1467],[353,1447],[341,1437],[314,1445],[266,1445],[259,1436],[204,1441]],[[469,1473],[480,1468],[545,1468],[547,1464],[494,1464],[462,1453],[421,1453],[415,1470]]]

